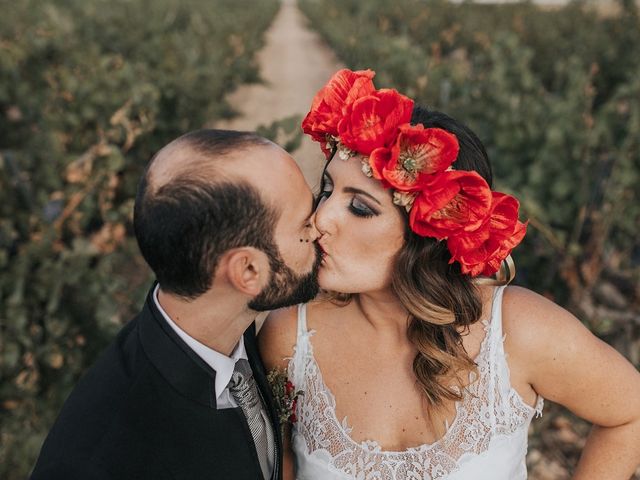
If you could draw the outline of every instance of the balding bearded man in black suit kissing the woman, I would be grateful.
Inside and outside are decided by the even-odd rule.
[[[311,299],[313,197],[251,133],[201,130],[151,160],[134,228],[158,280],[78,383],[33,479],[279,479],[257,311]]]

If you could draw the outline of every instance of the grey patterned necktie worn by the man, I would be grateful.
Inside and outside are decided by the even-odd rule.
[[[233,375],[229,381],[229,391],[242,409],[242,413],[244,413],[249,424],[251,436],[256,444],[256,452],[258,453],[262,474],[264,478],[271,478],[270,465],[273,465],[275,457],[273,429],[271,422],[265,420],[268,417],[264,412],[264,405],[262,404],[256,381],[253,378],[251,366],[247,360],[240,359],[236,362]],[[270,459],[271,462],[269,462]]]

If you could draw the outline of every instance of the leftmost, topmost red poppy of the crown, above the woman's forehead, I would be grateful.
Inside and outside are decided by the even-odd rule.
[[[348,105],[375,91],[371,70],[336,72],[313,99],[311,110],[302,122],[302,130],[320,142],[323,150],[327,135],[338,135],[338,122]],[[326,153],[326,152],[325,152]]]

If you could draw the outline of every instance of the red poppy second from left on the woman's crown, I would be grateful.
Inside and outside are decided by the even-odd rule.
[[[344,146],[363,155],[380,147],[390,147],[398,126],[411,120],[413,100],[392,89],[381,89],[348,105],[338,123]]]

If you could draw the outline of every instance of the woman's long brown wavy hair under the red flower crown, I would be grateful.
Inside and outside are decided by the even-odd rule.
[[[442,128],[456,135],[460,145],[456,170],[475,170],[491,186],[489,157],[480,139],[448,115],[416,106],[412,124]],[[445,242],[415,234],[408,226],[398,253],[392,288],[409,312],[407,337],[418,353],[413,371],[428,406],[436,411],[446,400],[462,399],[462,388],[477,367],[466,352],[462,336],[482,315],[476,283],[461,272]]]

